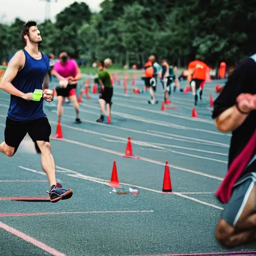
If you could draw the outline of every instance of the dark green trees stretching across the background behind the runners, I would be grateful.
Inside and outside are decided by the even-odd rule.
[[[141,67],[150,54],[178,66],[198,58],[214,68],[254,53],[255,0],[104,0],[100,7],[93,13],[73,2],[54,23],[39,23],[41,50],[55,56],[67,51],[88,66],[110,57],[129,67]],[[0,63],[24,46],[25,21],[0,24]]]

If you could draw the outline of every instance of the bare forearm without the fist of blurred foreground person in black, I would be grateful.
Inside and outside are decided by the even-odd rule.
[[[241,113],[234,105],[215,118],[216,127],[223,132],[230,132],[238,128],[247,118],[247,114]]]

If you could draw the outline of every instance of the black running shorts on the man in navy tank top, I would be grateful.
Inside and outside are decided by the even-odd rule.
[[[31,121],[20,122],[6,117],[4,141],[8,146],[14,147],[15,151],[27,132],[33,142],[36,140],[49,142],[51,127],[48,119],[41,117]]]

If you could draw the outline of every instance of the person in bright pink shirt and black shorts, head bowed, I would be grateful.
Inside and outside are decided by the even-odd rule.
[[[59,54],[59,59],[55,62],[51,74],[56,76],[59,86],[56,87],[57,93],[57,115],[60,122],[63,114],[64,98],[68,97],[72,101],[76,112],[76,123],[81,123],[79,118],[79,105],[76,97],[77,80],[81,78],[81,72],[74,59],[69,59],[66,52]]]

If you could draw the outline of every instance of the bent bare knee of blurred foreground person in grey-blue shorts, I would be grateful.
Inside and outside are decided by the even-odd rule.
[[[225,220],[220,219],[216,228],[216,238],[218,242],[226,247],[233,248],[236,246],[234,240],[232,239],[232,235],[234,232],[234,227],[229,225]]]

